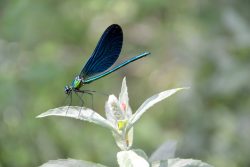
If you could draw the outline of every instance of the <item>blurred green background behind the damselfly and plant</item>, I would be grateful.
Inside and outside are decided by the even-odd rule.
[[[117,166],[119,149],[108,130],[74,119],[35,118],[65,104],[64,86],[112,23],[124,31],[117,63],[152,54],[86,89],[118,95],[126,76],[135,111],[155,93],[191,87],[142,117],[134,148],[150,155],[176,140],[177,157],[250,166],[249,9],[243,0],[0,0],[0,166],[68,157]],[[88,106],[89,97],[84,99]],[[101,115],[105,100],[94,96]]]

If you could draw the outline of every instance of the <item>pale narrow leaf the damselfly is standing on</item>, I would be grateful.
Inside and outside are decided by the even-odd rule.
[[[63,106],[59,108],[54,108],[38,115],[37,118],[43,118],[47,116],[62,116],[62,117],[80,119],[88,122],[93,122],[95,124],[109,128],[111,130],[115,130],[112,124],[105,118],[103,118],[100,114],[85,107]]]

